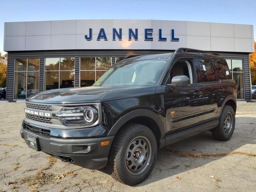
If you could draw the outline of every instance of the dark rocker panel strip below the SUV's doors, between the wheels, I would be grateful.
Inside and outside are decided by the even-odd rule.
[[[166,140],[165,146],[167,146],[171,143],[180,141],[182,139],[200,134],[202,132],[212,130],[216,126],[218,126],[218,124],[219,124],[219,120],[213,120],[213,121],[207,122],[207,123],[202,124],[202,125],[198,125],[196,127],[189,128],[189,129],[181,131],[181,132],[170,134],[170,135],[165,137],[165,140]]]

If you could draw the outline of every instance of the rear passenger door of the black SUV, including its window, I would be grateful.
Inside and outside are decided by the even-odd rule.
[[[204,122],[218,118],[220,101],[224,87],[217,76],[213,60],[196,59],[197,79],[204,86]]]

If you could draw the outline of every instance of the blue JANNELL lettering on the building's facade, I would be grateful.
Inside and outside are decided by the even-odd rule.
[[[144,41],[153,41],[153,32],[154,30],[152,28],[146,28],[144,30]],[[175,38],[174,35],[174,29],[170,30],[170,36],[171,36],[171,41],[179,41],[179,38]],[[128,30],[128,40],[131,41],[132,38],[135,41],[138,41],[138,29],[132,30],[129,28]],[[85,35],[84,38],[87,41],[92,40],[93,38],[93,33],[92,33],[92,28],[89,28],[89,34]],[[101,39],[107,41],[108,38],[106,36],[106,32],[104,28],[101,28],[98,35],[97,35],[97,41],[100,41]],[[122,28],[119,28],[119,30],[116,30],[116,28],[113,28],[112,32],[112,40],[115,41],[116,39],[122,41]],[[167,41],[167,38],[162,36],[162,29],[158,29],[158,41]]]

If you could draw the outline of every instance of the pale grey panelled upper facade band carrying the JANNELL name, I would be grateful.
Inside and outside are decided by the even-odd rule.
[[[252,25],[170,20],[4,23],[4,51],[175,50],[254,52]]]

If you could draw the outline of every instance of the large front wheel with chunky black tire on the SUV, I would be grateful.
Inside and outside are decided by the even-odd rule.
[[[121,183],[133,186],[145,180],[156,162],[154,133],[141,124],[127,124],[116,134],[107,170]]]

